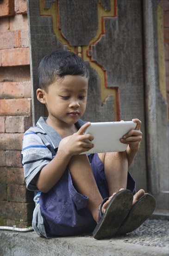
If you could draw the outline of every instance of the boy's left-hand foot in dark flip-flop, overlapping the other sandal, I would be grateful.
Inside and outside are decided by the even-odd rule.
[[[131,209],[133,195],[123,189],[103,200],[98,213],[98,224],[93,231],[95,239],[113,236]]]

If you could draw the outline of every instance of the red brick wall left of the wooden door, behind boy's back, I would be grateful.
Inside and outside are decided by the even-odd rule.
[[[0,225],[31,224],[20,151],[32,124],[26,0],[0,1]]]

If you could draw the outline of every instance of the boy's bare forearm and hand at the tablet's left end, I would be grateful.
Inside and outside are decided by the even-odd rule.
[[[78,155],[94,147],[92,143],[86,142],[86,140],[92,141],[94,137],[90,134],[83,134],[89,125],[89,122],[85,123],[77,133],[63,138],[59,143],[55,158],[45,165],[35,177],[36,185],[40,191],[47,193],[53,188],[62,177],[73,155]]]

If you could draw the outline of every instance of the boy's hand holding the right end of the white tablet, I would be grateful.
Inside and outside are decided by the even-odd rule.
[[[127,134],[123,135],[120,141],[124,144],[129,144],[131,150],[138,151],[140,142],[142,139],[142,132],[140,131],[141,121],[139,119],[132,119],[133,122],[137,122],[135,130],[131,130]]]

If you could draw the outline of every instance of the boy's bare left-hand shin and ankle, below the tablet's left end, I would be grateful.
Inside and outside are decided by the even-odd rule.
[[[98,209],[103,201],[102,196],[98,193],[98,188],[90,162],[87,155],[74,155],[69,162],[69,171],[75,186],[75,189],[82,195],[88,196],[88,209],[94,220],[97,222]],[[97,191],[97,193],[95,193]],[[103,213],[106,210],[112,196],[103,204]]]

